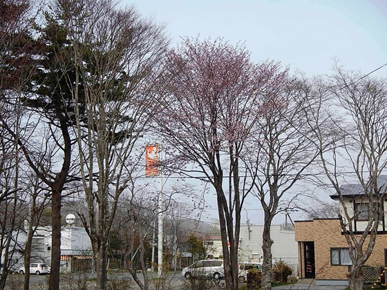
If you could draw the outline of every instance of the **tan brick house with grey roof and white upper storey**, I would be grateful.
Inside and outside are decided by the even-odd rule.
[[[364,233],[368,221],[375,220],[376,200],[381,200],[379,225],[375,247],[362,268],[365,282],[375,282],[380,269],[387,265],[387,176],[379,176],[377,186],[370,184],[343,184],[340,195],[330,195],[340,200],[339,210],[344,222],[352,224],[356,233]],[[366,195],[365,193],[372,193]],[[372,198],[372,196],[374,198]],[[346,210],[349,219],[343,211]],[[348,243],[343,235],[339,218],[299,220],[294,223],[298,244],[299,278],[312,278],[319,285],[348,285],[347,273],[352,265]],[[373,280],[373,281],[372,281]]]

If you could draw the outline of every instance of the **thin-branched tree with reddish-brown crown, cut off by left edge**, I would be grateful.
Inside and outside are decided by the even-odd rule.
[[[39,2],[6,0],[0,3],[0,253],[4,255],[0,287],[6,285],[8,270],[17,267],[26,213],[26,177],[20,139],[26,137],[21,96],[35,71],[31,55],[37,52],[32,38],[32,23],[39,14]],[[28,123],[28,122],[27,122]],[[27,253],[28,254],[28,253]],[[27,286],[28,287],[28,286]]]

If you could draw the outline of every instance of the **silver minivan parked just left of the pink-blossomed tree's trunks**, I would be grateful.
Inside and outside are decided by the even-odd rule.
[[[191,266],[182,269],[182,276],[186,279],[192,277],[214,277],[218,279],[222,277],[223,273],[223,260],[200,260]]]

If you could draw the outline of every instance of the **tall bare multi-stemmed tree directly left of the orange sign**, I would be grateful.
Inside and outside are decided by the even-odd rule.
[[[88,217],[80,218],[92,242],[97,289],[106,289],[108,235],[120,195],[142,160],[135,148],[157,109],[154,85],[168,41],[162,26],[113,1],[61,0],[55,9],[73,44],[74,59],[62,66],[76,68],[68,87],[88,205]]]

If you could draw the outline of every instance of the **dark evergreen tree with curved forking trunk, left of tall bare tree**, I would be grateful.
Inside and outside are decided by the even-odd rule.
[[[23,128],[28,129],[28,135],[21,136],[20,128],[8,124],[7,120],[0,115],[1,123],[4,130],[12,136],[14,142],[19,146],[19,150],[23,152],[28,166],[50,188],[53,231],[50,289],[58,289],[60,209],[62,191],[70,173],[72,144],[69,133],[71,122],[70,117],[66,114],[67,108],[65,108],[69,106],[66,102],[66,97],[68,101],[68,92],[63,90],[65,86],[63,86],[63,83],[61,84],[63,72],[57,66],[56,55],[59,50],[63,50],[66,42],[63,41],[63,33],[56,33],[59,30],[56,29],[57,26],[53,25],[55,23],[50,21],[51,19],[46,19],[47,25],[44,26],[43,24],[38,29],[39,33],[34,35],[36,30],[33,28],[37,27],[35,26],[35,16],[39,14],[40,7],[32,6],[32,1],[8,2],[11,3],[11,7],[20,7],[33,13],[33,17],[28,17],[28,14],[17,15],[17,20],[23,23],[23,29],[8,32],[8,39],[14,41],[10,41],[10,43],[14,43],[14,46],[5,50],[7,57],[1,58],[6,61],[6,64],[1,67],[6,68],[6,72],[2,72],[2,75],[6,75],[6,81],[3,84],[6,84],[8,89],[6,90],[5,100],[10,106],[22,107],[30,112],[26,117],[23,117],[22,121]],[[14,14],[9,13],[7,15]],[[46,14],[46,16],[48,17],[49,14]],[[3,40],[2,37],[1,40]],[[12,52],[13,57],[10,57],[10,52]],[[17,93],[13,97],[9,94],[11,90]],[[41,124],[38,126],[39,122]],[[44,127],[48,131],[41,134],[42,131],[39,131],[39,129],[44,123],[48,125]],[[48,140],[46,143],[39,143],[41,135],[46,136],[47,132],[50,133],[51,138],[49,140],[44,139],[45,141]],[[39,147],[39,145],[44,145],[46,148]],[[48,160],[45,164],[39,163],[42,155],[45,155],[46,160]],[[61,157],[62,166],[58,166],[57,162],[60,162]],[[28,285],[25,285],[25,287],[28,287]]]

